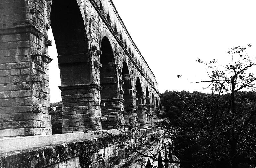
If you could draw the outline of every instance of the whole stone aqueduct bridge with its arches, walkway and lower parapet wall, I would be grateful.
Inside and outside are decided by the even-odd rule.
[[[58,135],[51,135],[50,28],[66,133]],[[114,165],[110,158],[125,150],[92,133],[109,129],[122,137],[129,133],[116,126],[130,124],[144,128],[129,136],[131,144],[139,135],[162,137],[163,130],[153,128],[160,106],[155,76],[111,0],[0,0],[1,168],[130,167],[138,153]],[[139,150],[147,154],[156,143]],[[99,154],[105,166],[95,162]]]

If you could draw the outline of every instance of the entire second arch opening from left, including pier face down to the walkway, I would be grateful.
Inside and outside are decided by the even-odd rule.
[[[102,122],[103,129],[120,128],[124,125],[123,102],[121,98],[119,78],[115,63],[114,52],[107,36],[101,41],[100,55],[100,86],[101,102],[105,107],[101,108],[103,117],[108,121]]]

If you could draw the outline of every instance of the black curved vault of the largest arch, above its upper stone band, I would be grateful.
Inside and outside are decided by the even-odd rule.
[[[83,17],[75,0],[53,0],[50,19],[58,55],[89,52]]]

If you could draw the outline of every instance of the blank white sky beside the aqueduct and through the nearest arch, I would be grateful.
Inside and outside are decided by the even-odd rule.
[[[225,64],[228,48],[251,43],[256,53],[255,0],[113,0],[133,41],[156,76],[159,92],[202,91],[197,58]],[[49,31],[50,32],[50,31]],[[51,35],[49,39],[53,40]],[[49,47],[51,102],[61,101],[55,46]],[[182,75],[177,79],[177,75]],[[189,80],[187,80],[189,78]]]

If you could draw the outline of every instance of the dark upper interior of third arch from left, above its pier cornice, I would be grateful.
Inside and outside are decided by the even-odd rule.
[[[131,84],[131,78],[129,75],[129,69],[126,62],[123,63],[122,80],[124,81],[124,84],[123,84],[124,106],[131,106],[132,105],[132,84]]]

